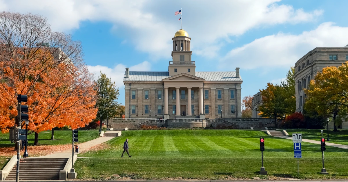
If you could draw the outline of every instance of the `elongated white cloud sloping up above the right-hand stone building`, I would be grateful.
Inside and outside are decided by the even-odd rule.
[[[348,43],[348,27],[323,23],[299,35],[278,33],[258,38],[231,50],[219,64],[225,69],[232,62],[244,69],[290,67],[315,47],[343,47]]]

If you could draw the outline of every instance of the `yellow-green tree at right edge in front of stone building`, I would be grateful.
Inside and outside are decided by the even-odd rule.
[[[348,119],[348,61],[337,67],[323,68],[323,72],[310,81],[305,110],[316,111],[324,118],[332,117],[334,131],[342,124],[342,119]]]

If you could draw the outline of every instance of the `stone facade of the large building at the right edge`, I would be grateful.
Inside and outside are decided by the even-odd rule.
[[[303,89],[308,88],[309,81],[314,79],[318,72],[329,66],[339,67],[348,60],[348,46],[345,47],[316,47],[309,51],[295,63],[295,97],[296,112],[303,111],[306,94]],[[333,129],[333,122],[329,123]],[[348,129],[348,123],[343,121],[339,128]]]

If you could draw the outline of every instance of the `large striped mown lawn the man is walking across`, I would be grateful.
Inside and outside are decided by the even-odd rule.
[[[261,167],[259,138],[265,138],[264,166]],[[129,138],[130,154],[120,158]],[[131,179],[261,179],[292,177],[299,179],[348,179],[348,150],[327,147],[322,175],[319,145],[302,143],[300,176],[293,143],[250,130],[138,130],[122,131],[107,142],[108,148],[79,154],[75,163],[79,179],[114,179],[119,174]]]

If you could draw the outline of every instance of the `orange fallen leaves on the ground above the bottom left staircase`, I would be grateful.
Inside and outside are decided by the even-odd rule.
[[[60,153],[65,150],[71,150],[71,144],[66,145],[39,145],[39,146],[28,146],[28,154],[30,157],[45,156],[55,153]],[[12,157],[17,155],[17,151],[14,151],[14,147],[1,147],[0,156]],[[21,156],[23,156],[24,150],[21,151]]]

